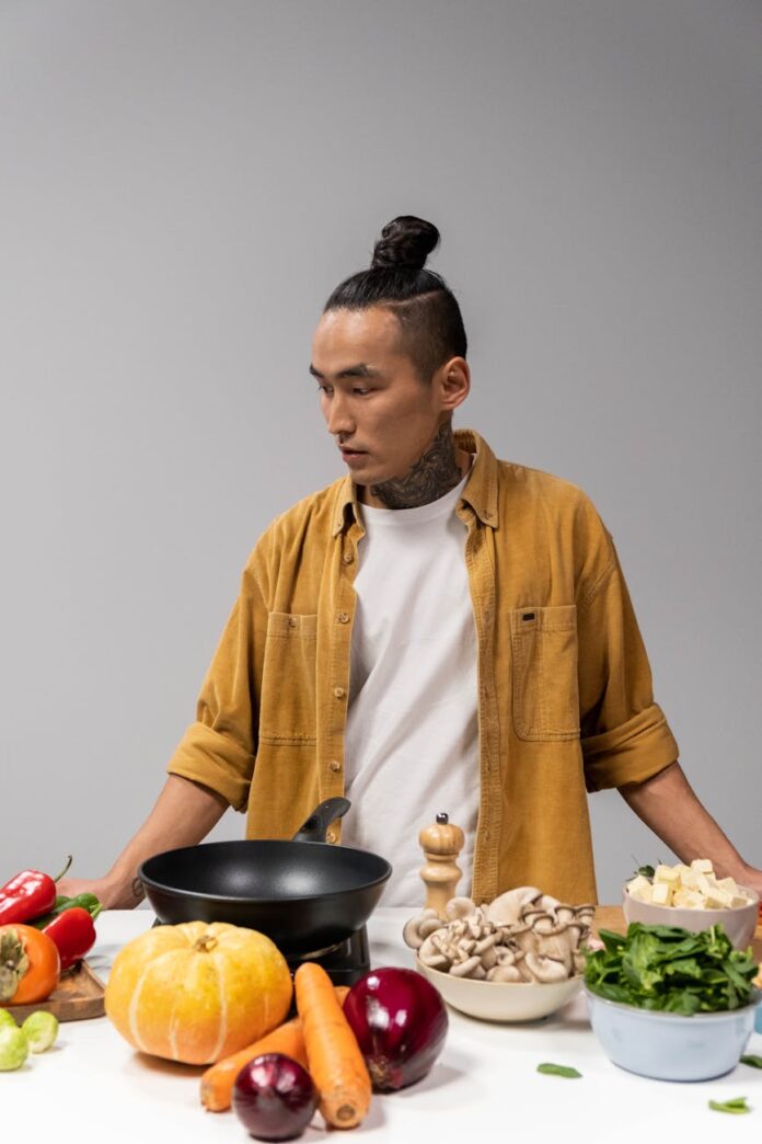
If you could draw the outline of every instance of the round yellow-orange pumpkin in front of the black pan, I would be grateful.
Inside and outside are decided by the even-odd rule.
[[[123,946],[104,1001],[134,1048],[206,1065],[280,1025],[292,992],[286,959],[264,934],[183,922],[158,925]]]

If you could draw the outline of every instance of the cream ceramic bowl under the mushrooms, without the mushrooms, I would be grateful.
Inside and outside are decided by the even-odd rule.
[[[581,986],[581,976],[550,985],[521,982],[478,982],[430,969],[416,958],[416,969],[448,1004],[480,1020],[537,1020],[561,1009]]]

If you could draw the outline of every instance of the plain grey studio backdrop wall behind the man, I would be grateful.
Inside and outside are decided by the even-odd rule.
[[[762,864],[761,59],[740,0],[0,5],[0,881],[102,874],[152,805],[258,533],[342,472],[310,341],[400,213],[456,423],[596,502]],[[592,810],[615,900],[668,853]]]

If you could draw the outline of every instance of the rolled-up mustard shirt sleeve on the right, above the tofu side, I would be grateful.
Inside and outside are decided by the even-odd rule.
[[[581,749],[588,791],[642,782],[677,758],[653,701],[651,669],[627,585],[611,562],[578,604]]]

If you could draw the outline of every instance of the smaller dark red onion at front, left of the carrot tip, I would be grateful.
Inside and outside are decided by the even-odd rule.
[[[283,1052],[264,1052],[243,1065],[233,1085],[233,1109],[260,1141],[299,1136],[318,1107],[312,1077]]]

